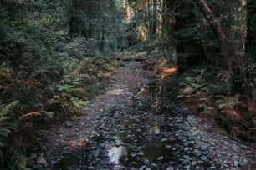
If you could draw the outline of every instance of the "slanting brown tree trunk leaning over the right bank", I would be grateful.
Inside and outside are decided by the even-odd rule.
[[[217,17],[214,16],[211,8],[208,7],[207,3],[204,0],[194,0],[197,3],[197,6],[202,11],[203,15],[207,18],[207,21],[212,26],[212,31],[214,32],[215,36],[218,39],[218,43],[223,53],[223,57],[225,59],[226,66],[228,67],[229,71],[232,71],[231,64],[232,64],[232,57],[228,47],[228,41],[226,37],[226,33],[224,32],[222,23],[219,21]]]

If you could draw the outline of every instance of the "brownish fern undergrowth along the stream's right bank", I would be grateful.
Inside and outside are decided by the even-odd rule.
[[[251,57],[238,74],[200,62],[179,70],[175,55],[168,55],[175,53],[172,49],[158,50],[147,52],[145,67],[156,70],[163,97],[186,102],[195,115],[226,129],[230,137],[256,146],[256,64]]]

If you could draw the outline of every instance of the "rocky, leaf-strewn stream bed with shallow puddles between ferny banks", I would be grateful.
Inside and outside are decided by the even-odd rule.
[[[151,72],[124,62],[78,121],[53,126],[28,158],[33,169],[256,169],[253,148],[182,102],[164,102]]]

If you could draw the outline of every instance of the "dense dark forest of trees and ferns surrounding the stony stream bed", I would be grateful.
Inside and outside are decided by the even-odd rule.
[[[253,0],[1,0],[0,167],[26,169],[38,133],[79,117],[126,56],[255,143],[255,24]]]

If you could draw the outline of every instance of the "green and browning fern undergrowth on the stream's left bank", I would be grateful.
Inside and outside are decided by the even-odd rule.
[[[51,123],[78,118],[94,95],[104,92],[114,62],[77,37],[44,66],[3,62],[0,69],[1,167],[26,167],[38,132]],[[26,62],[26,61],[22,61]],[[32,61],[31,61],[32,62]]]

